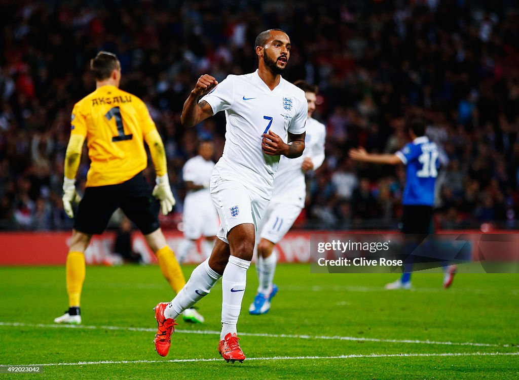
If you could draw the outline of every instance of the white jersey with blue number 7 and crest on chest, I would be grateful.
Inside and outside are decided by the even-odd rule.
[[[305,132],[308,105],[303,90],[281,78],[270,90],[258,72],[229,75],[204,100],[213,114],[225,110],[225,147],[213,173],[236,180],[270,199],[280,156],[264,154],[262,134],[269,130],[284,141],[287,131]]]

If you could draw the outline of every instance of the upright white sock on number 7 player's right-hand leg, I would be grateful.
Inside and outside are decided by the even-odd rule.
[[[222,276],[222,332],[220,340],[225,335],[236,333],[236,325],[240,316],[241,302],[247,282],[247,270],[251,262],[229,256],[229,262]]]

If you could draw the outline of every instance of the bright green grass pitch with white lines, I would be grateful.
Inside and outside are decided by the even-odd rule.
[[[440,272],[415,273],[413,290],[385,291],[396,277],[282,264],[270,312],[251,316],[251,267],[238,325],[247,360],[230,364],[216,349],[220,283],[198,304],[206,323],[180,321],[161,358],[152,308],[173,294],[157,266],[87,267],[75,328],[52,322],[67,306],[64,267],[0,268],[0,364],[49,364],[0,379],[519,378],[518,275],[459,274],[444,290]]]

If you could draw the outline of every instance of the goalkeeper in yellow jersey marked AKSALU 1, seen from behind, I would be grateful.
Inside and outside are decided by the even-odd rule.
[[[179,292],[185,285],[179,263],[166,244],[158,222],[159,208],[162,214],[168,214],[175,199],[169,185],[164,146],[155,123],[140,98],[119,90],[121,66],[115,54],[99,52],[90,61],[90,68],[96,89],[74,106],[65,155],[63,207],[72,218],[72,204],[79,202],[79,206],[66,259],[69,310],[54,319],[57,323],[81,323],[79,301],[85,279],[84,252],[92,234],[105,230],[118,207],[143,233],[173,290]],[[85,138],[91,164],[85,195],[80,200],[75,178]],[[147,166],[144,141],[157,175],[153,192],[142,174]],[[195,309],[188,309],[184,320],[203,322],[203,317]]]

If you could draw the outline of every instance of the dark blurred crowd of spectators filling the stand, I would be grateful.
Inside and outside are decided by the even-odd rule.
[[[514,8],[515,7],[515,8]],[[514,1],[0,1],[0,230],[70,229],[62,202],[72,107],[93,91],[89,60],[118,55],[121,88],[147,104],[165,143],[177,205],[181,169],[225,118],[193,129],[180,112],[198,76],[257,67],[271,27],[293,49],[283,77],[319,86],[326,160],[309,173],[298,227],[397,228],[405,168],[348,159],[392,153],[421,116],[441,147],[435,221],[443,229],[519,227],[519,5]],[[84,187],[86,148],[77,186]],[[150,181],[154,171],[146,171]]]

